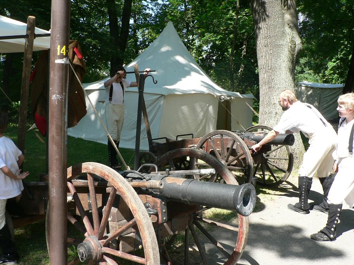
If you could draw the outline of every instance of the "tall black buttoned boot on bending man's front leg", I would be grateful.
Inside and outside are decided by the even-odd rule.
[[[299,202],[288,204],[290,210],[297,211],[300,214],[309,213],[308,193],[311,190],[312,178],[299,177]]]

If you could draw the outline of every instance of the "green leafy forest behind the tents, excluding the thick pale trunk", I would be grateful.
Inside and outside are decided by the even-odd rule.
[[[294,2],[302,41],[295,81],[349,83],[346,89],[351,91],[353,0]],[[51,28],[51,2],[47,0],[0,0],[0,15],[25,23],[29,15],[34,16],[37,27]],[[71,0],[70,38],[79,41],[83,52],[87,68],[84,82],[106,78],[114,66],[134,60],[168,21],[215,83],[227,90],[252,93],[257,109],[256,38],[249,1]],[[34,52],[34,62],[39,54]],[[0,58],[1,88],[12,101],[1,93],[0,108],[12,110],[14,116],[20,97],[22,57],[21,53],[2,54]]]

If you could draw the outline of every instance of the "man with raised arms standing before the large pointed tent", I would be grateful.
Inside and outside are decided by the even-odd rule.
[[[149,74],[150,69],[145,69],[145,76]],[[126,71],[123,66],[118,66],[116,74],[104,82],[106,88],[106,124],[117,148],[119,147],[120,134],[124,123],[124,93],[129,87],[138,86],[137,82],[125,80]],[[117,152],[108,140],[108,163],[112,169],[121,168],[117,161]]]

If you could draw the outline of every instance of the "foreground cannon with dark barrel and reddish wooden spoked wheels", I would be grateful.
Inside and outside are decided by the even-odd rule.
[[[212,155],[185,149],[184,155],[203,161],[205,168],[172,171],[148,164],[141,168],[153,172],[118,173],[98,163],[70,167],[67,218],[72,228],[67,242],[77,251],[69,255],[70,264],[128,260],[155,265],[175,264],[175,259],[189,264],[191,258],[208,264],[209,253],[215,256],[215,251],[218,263],[237,264],[247,241],[255,189],[249,183],[238,185]],[[215,207],[227,209],[233,221],[215,219]],[[175,256],[172,245],[182,248],[184,257]],[[197,256],[191,257],[191,247]]]

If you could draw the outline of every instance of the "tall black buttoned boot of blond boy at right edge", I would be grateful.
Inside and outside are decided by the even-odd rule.
[[[310,237],[317,241],[333,241],[336,239],[336,230],[339,216],[342,211],[342,204],[328,204],[328,219],[326,226],[320,232]]]

